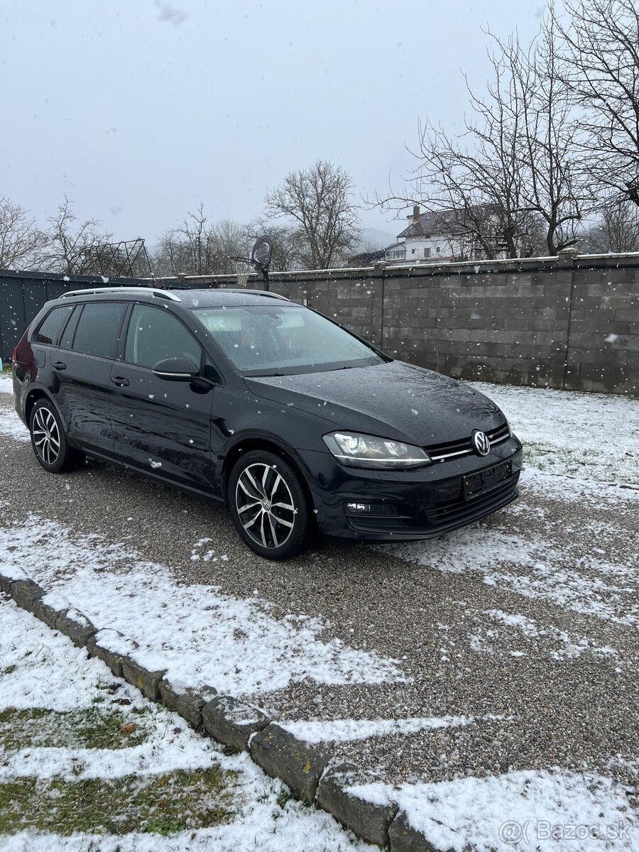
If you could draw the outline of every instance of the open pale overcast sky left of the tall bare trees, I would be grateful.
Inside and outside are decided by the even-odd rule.
[[[419,118],[459,128],[460,69],[486,80],[481,27],[527,39],[541,7],[0,0],[0,196],[44,222],[66,194],[150,245],[200,200],[211,219],[249,222],[317,158],[371,196],[412,167]]]

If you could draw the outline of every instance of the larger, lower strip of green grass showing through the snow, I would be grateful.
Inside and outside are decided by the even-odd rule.
[[[62,836],[174,834],[227,823],[237,773],[220,767],[176,770],[150,779],[37,780],[0,784],[0,835],[28,829]]]

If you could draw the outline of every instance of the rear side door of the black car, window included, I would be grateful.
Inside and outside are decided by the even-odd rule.
[[[113,301],[77,305],[51,353],[51,384],[66,434],[107,455],[113,452],[109,379],[126,308]]]

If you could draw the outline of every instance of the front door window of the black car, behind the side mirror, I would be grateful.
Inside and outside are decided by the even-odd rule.
[[[202,348],[190,331],[165,308],[135,305],[126,336],[124,360],[153,367],[165,358],[190,358],[199,366]]]

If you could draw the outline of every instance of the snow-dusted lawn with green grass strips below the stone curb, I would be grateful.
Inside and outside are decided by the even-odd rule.
[[[0,635],[4,852],[374,849],[9,600]]]

